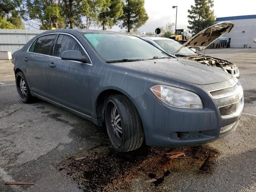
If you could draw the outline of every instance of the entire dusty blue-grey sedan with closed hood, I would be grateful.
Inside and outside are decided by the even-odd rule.
[[[33,97],[106,124],[118,152],[214,141],[238,125],[244,105],[237,78],[171,56],[118,32],[52,30],[13,54],[16,86]]]

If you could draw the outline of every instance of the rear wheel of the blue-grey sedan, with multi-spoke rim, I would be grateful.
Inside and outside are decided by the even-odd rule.
[[[26,78],[22,72],[16,74],[16,87],[20,100],[24,103],[32,102],[32,96]]]

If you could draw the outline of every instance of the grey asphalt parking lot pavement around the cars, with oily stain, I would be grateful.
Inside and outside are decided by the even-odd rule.
[[[256,49],[205,54],[230,60],[240,70],[245,105],[236,131],[199,147],[142,146],[126,154],[113,150],[104,126],[39,99],[23,104],[13,64],[0,61],[0,191],[255,192]],[[166,152],[186,156],[168,160]],[[150,179],[156,181],[146,182]]]

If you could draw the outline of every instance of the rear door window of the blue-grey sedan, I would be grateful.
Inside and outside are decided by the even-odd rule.
[[[52,35],[45,35],[45,36],[38,38],[38,40],[34,46],[34,50],[32,52],[40,53],[40,54],[44,54],[44,55],[51,55],[55,37],[56,37],[56,34],[52,34]],[[33,44],[32,44],[32,46],[33,46]]]

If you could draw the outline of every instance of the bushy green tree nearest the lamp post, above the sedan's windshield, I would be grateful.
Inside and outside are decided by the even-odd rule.
[[[120,27],[137,30],[148,20],[148,14],[144,8],[144,0],[124,0],[124,14],[120,17]]]

